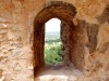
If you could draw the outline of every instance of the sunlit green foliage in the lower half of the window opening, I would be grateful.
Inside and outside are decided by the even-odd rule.
[[[45,63],[62,62],[61,42],[59,39],[46,41],[45,43]]]

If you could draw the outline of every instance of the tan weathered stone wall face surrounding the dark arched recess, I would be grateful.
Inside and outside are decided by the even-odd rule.
[[[75,27],[70,31],[80,33],[70,40],[78,40],[75,49],[70,45],[74,50],[71,62],[77,62],[74,65],[78,69],[84,65],[80,69],[84,81],[109,81],[108,0],[0,0],[0,80],[34,81],[34,21],[50,1],[64,1],[76,8],[72,18]]]

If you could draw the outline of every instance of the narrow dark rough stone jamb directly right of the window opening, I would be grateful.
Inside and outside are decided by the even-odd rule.
[[[70,38],[70,26],[61,22],[61,41],[62,41],[62,60],[65,63],[65,65],[71,66],[71,59],[70,59],[70,46],[69,46],[69,38]],[[63,44],[64,43],[64,44]]]

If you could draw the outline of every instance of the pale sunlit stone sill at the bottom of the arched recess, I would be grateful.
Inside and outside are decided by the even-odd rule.
[[[83,73],[63,63],[46,64],[37,72],[35,81],[84,81]]]

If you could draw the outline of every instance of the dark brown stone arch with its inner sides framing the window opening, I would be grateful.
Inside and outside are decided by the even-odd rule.
[[[44,43],[45,43],[45,23],[50,18],[57,17],[62,21],[61,24],[61,40],[63,42],[63,58],[66,60],[66,65],[69,62],[75,63],[74,65],[80,65],[77,59],[84,59],[83,55],[80,55],[76,59],[77,55],[74,51],[76,46],[83,45],[82,42],[76,42],[76,40],[81,41],[81,38],[77,35],[82,33],[80,29],[73,24],[73,18],[76,15],[76,9],[71,4],[63,1],[51,1],[45,9],[43,9],[35,17],[34,21],[34,57],[35,57],[35,71],[45,65],[44,62]],[[68,31],[68,32],[66,32]],[[74,32],[73,32],[74,31]],[[66,36],[68,33],[68,36]],[[76,37],[75,37],[76,36]],[[72,39],[72,40],[70,40]],[[75,43],[76,42],[76,43]],[[75,44],[74,44],[75,43]],[[74,44],[74,45],[73,45]],[[73,48],[74,50],[72,50]],[[65,50],[65,51],[64,51]],[[83,46],[81,48],[83,50]],[[73,52],[74,51],[74,52]],[[77,52],[78,53],[78,52]],[[83,52],[84,53],[84,52]],[[68,54],[68,58],[64,56]],[[72,59],[72,57],[74,59]],[[80,60],[81,62],[81,60]],[[83,63],[78,66],[82,68]]]

